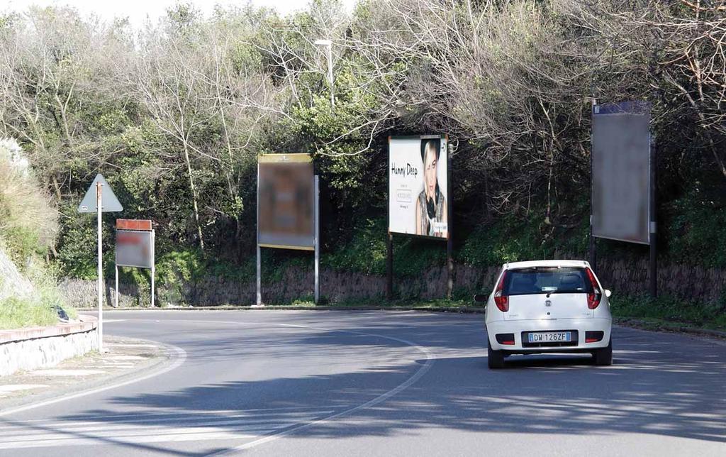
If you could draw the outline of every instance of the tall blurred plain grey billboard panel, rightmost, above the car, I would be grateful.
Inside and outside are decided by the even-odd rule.
[[[650,107],[645,103],[593,108],[592,234],[650,243]]]

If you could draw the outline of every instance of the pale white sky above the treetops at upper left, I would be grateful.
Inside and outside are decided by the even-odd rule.
[[[65,6],[74,7],[82,15],[94,13],[103,20],[113,20],[114,17],[129,17],[129,21],[135,27],[142,25],[147,16],[152,22],[165,14],[166,9],[179,3],[179,0],[0,0],[0,12],[10,10],[22,12],[30,5],[39,7]],[[191,3],[205,14],[213,11],[216,4],[221,6],[242,5],[247,0],[185,0],[183,3]],[[251,0],[251,4],[258,7],[273,7],[283,15],[299,9],[305,9],[308,0]],[[348,9],[352,9],[354,0],[343,0]]]

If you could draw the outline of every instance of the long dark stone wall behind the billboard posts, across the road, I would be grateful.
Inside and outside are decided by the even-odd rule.
[[[471,267],[457,265],[454,270],[454,297],[464,298],[478,291],[491,291],[499,267]],[[598,264],[598,275],[613,294],[635,295],[648,291],[648,262],[622,262],[603,259]],[[280,280],[263,278],[263,299],[266,303],[290,303],[295,299],[311,299],[313,271],[289,268]],[[445,267],[432,267],[417,277],[396,278],[394,287],[401,299],[438,299],[446,292]],[[96,282],[93,280],[65,280],[61,288],[70,303],[77,307],[96,306]],[[148,286],[139,290],[134,284],[122,283],[119,305],[148,306]],[[658,288],[661,294],[693,299],[701,302],[719,302],[726,299],[726,270],[661,264],[658,268]],[[322,296],[330,302],[346,300],[383,299],[386,277],[364,275],[357,272],[322,270],[320,275]],[[106,283],[107,303],[113,303],[113,281]],[[231,281],[209,276],[181,286],[157,288],[157,304],[191,304],[213,306],[220,304],[254,304],[255,278]]]

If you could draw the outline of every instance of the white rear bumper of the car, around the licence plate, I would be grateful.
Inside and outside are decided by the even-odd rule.
[[[489,344],[492,349],[510,354],[539,354],[541,352],[590,352],[608,346],[610,341],[612,320],[605,318],[582,319],[533,319],[533,320],[500,320],[486,324]],[[532,345],[523,341],[526,332],[531,331],[570,331],[571,343]],[[587,342],[587,332],[602,332],[598,341]],[[596,333],[600,336],[599,333]],[[511,338],[502,338],[503,335],[513,336],[514,344],[501,344],[497,341],[509,341]]]

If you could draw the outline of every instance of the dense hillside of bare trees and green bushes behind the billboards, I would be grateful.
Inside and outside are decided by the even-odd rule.
[[[658,0],[364,0],[351,14],[317,0],[289,17],[182,4],[141,31],[28,9],[0,18],[0,133],[52,193],[60,238],[55,250],[39,239],[39,219],[0,230],[19,256],[51,247],[63,274],[94,278],[93,220],[76,206],[102,171],[123,217],[155,221],[160,282],[252,275],[256,156],[307,152],[322,182],[323,265],[383,274],[387,137],[448,132],[457,262],[582,258],[590,104],[637,99],[653,105],[661,255],[725,267],[725,28],[719,9]],[[333,86],[317,38],[333,41]],[[110,252],[113,216],[104,229]],[[399,275],[445,262],[442,243],[396,235],[394,249]],[[266,251],[263,267],[306,262]]]

